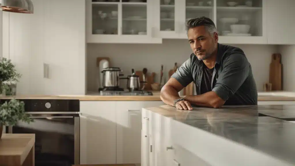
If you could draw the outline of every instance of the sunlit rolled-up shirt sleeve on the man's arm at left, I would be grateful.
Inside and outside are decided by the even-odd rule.
[[[175,78],[183,87],[186,87],[193,81],[191,63],[192,58],[189,58],[171,76],[171,78]]]

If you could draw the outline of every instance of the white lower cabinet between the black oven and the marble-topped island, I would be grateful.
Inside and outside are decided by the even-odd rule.
[[[141,164],[143,107],[162,101],[81,101],[80,164]]]

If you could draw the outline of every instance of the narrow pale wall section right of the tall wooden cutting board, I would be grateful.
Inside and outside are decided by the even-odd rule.
[[[279,52],[282,55],[283,89],[295,91],[295,45],[280,45]]]

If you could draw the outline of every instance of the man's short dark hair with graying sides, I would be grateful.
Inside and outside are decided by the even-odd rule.
[[[186,22],[186,32],[190,28],[198,27],[198,26],[205,26],[208,32],[213,36],[214,32],[217,32],[216,26],[214,22],[208,17],[197,17],[190,19]]]

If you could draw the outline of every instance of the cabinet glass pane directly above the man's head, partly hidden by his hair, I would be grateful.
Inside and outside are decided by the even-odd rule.
[[[186,0],[186,21],[202,16],[208,17],[213,20],[213,0]]]

